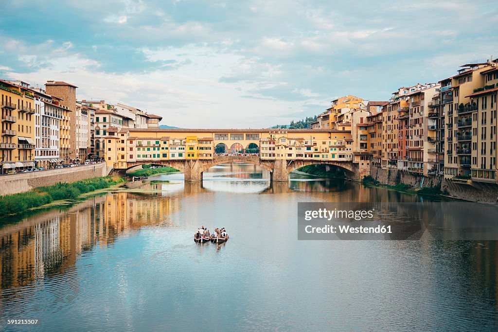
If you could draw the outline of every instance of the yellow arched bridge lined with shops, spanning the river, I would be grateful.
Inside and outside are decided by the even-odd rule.
[[[291,171],[312,164],[341,167],[354,180],[370,172],[370,154],[346,130],[108,128],[105,141],[109,167],[170,166],[184,172],[187,182],[201,181],[205,170],[229,162],[257,165],[271,173],[272,181],[288,181]],[[225,151],[255,146],[259,156],[218,156],[219,145]]]

